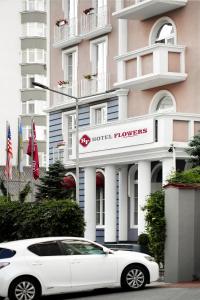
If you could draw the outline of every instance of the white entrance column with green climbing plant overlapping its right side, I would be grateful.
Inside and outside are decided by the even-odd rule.
[[[145,231],[144,211],[142,208],[151,193],[151,162],[138,163],[138,235]]]

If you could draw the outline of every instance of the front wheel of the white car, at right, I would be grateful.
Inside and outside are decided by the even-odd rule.
[[[126,290],[141,290],[147,283],[147,272],[141,265],[130,265],[121,276],[121,287]]]

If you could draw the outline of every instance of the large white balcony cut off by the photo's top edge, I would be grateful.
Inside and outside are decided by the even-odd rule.
[[[120,19],[145,20],[181,8],[188,0],[132,0],[126,7],[113,13]]]

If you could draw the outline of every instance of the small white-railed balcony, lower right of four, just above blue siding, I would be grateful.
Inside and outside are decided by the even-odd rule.
[[[92,96],[109,90],[110,76],[108,74],[86,75],[80,82],[80,97]]]

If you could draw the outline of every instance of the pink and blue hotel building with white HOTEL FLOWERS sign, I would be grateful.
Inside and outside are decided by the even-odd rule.
[[[200,39],[191,25],[199,8],[190,0],[50,1],[50,84],[78,97],[89,239],[136,241],[148,195],[186,167],[200,129]],[[48,111],[49,163],[61,160],[75,182],[75,102],[52,94]]]

